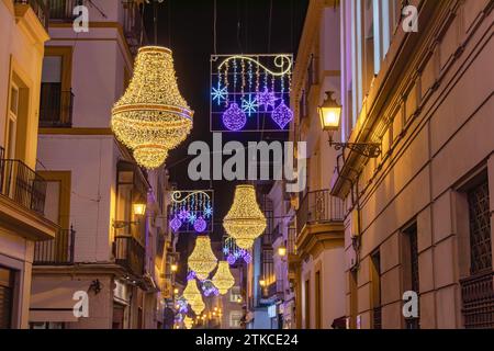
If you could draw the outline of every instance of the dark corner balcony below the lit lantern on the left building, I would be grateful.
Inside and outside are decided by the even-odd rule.
[[[145,249],[133,236],[116,236],[113,242],[115,263],[125,268],[131,274],[144,274]]]

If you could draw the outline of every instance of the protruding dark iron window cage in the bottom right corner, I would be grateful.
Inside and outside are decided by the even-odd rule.
[[[494,273],[486,272],[460,281],[462,313],[467,329],[494,328]]]

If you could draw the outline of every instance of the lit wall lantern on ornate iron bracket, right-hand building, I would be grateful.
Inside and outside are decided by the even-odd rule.
[[[321,125],[329,134],[329,146],[336,150],[350,149],[368,158],[377,158],[381,155],[381,144],[379,143],[335,143],[333,133],[339,131],[341,121],[341,105],[333,98],[333,92],[326,92],[326,100],[317,109]]]

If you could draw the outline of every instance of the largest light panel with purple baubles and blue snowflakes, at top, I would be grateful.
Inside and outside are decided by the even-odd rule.
[[[211,132],[285,132],[293,55],[212,55]]]

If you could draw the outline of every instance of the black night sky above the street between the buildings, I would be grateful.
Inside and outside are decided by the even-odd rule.
[[[296,54],[305,19],[307,0],[217,0],[216,54]],[[272,9],[272,10],[271,10]],[[194,110],[194,127],[189,138],[170,152],[167,168],[178,189],[209,189],[210,182],[191,182],[187,170],[188,146],[194,140],[211,143],[210,57],[214,52],[214,0],[165,0],[158,10],[158,45],[173,50],[179,89]],[[270,25],[270,13],[272,21]],[[146,33],[154,43],[153,9],[145,9]],[[270,30],[271,27],[271,30]],[[270,35],[271,33],[271,35]],[[223,143],[287,138],[285,133],[224,134]],[[215,191],[215,233],[221,240],[221,220],[232,201],[235,182],[213,182]],[[186,237],[186,236],[184,236]],[[189,241],[180,240],[179,251]],[[182,257],[183,258],[183,257]]]

